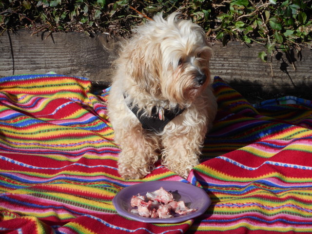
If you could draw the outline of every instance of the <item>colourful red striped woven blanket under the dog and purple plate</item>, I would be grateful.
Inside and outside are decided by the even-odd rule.
[[[218,77],[214,89],[214,128],[187,180],[157,162],[144,179],[125,181],[109,90],[93,94],[80,77],[0,78],[0,234],[311,233],[312,102],[253,106]],[[118,215],[118,191],[152,180],[192,183],[212,204],[175,224]]]

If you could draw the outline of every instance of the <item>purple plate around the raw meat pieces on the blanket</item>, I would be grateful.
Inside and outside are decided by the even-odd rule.
[[[147,192],[154,192],[163,187],[166,191],[173,193],[176,201],[184,201],[187,207],[197,209],[195,212],[187,215],[175,215],[172,218],[148,218],[138,214],[131,213],[134,209],[130,205],[133,195],[146,195]],[[195,218],[205,213],[211,204],[207,193],[194,185],[179,181],[150,181],[132,185],[122,189],[113,199],[113,204],[119,215],[146,223],[179,223],[191,218]]]

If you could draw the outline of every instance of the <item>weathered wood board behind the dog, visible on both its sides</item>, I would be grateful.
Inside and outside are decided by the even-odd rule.
[[[5,32],[0,37],[1,77],[53,71],[87,77],[99,84],[110,83],[111,62],[117,57],[118,39],[106,34],[91,38],[75,32],[53,33],[48,37],[47,32],[31,34],[32,31],[20,30]],[[272,71],[269,62],[257,58],[258,53],[265,50],[262,45],[232,41],[226,47],[216,42],[212,48],[212,76],[220,76],[238,89],[245,88],[246,92],[308,89],[311,92],[311,48],[304,48],[298,56],[292,51],[292,59],[285,53],[275,53]]]

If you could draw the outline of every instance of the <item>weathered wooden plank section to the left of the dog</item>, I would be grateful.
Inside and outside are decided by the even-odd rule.
[[[4,33],[0,37],[0,75],[56,72],[107,81],[111,61],[116,57],[116,40],[106,34],[90,38],[84,34]]]

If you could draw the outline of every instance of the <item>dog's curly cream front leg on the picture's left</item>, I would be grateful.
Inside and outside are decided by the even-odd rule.
[[[127,132],[119,131],[122,131],[122,139],[119,140],[121,153],[118,159],[118,173],[125,179],[146,176],[154,169],[154,163],[158,159],[155,152],[158,147],[156,137],[144,134],[139,125]]]

